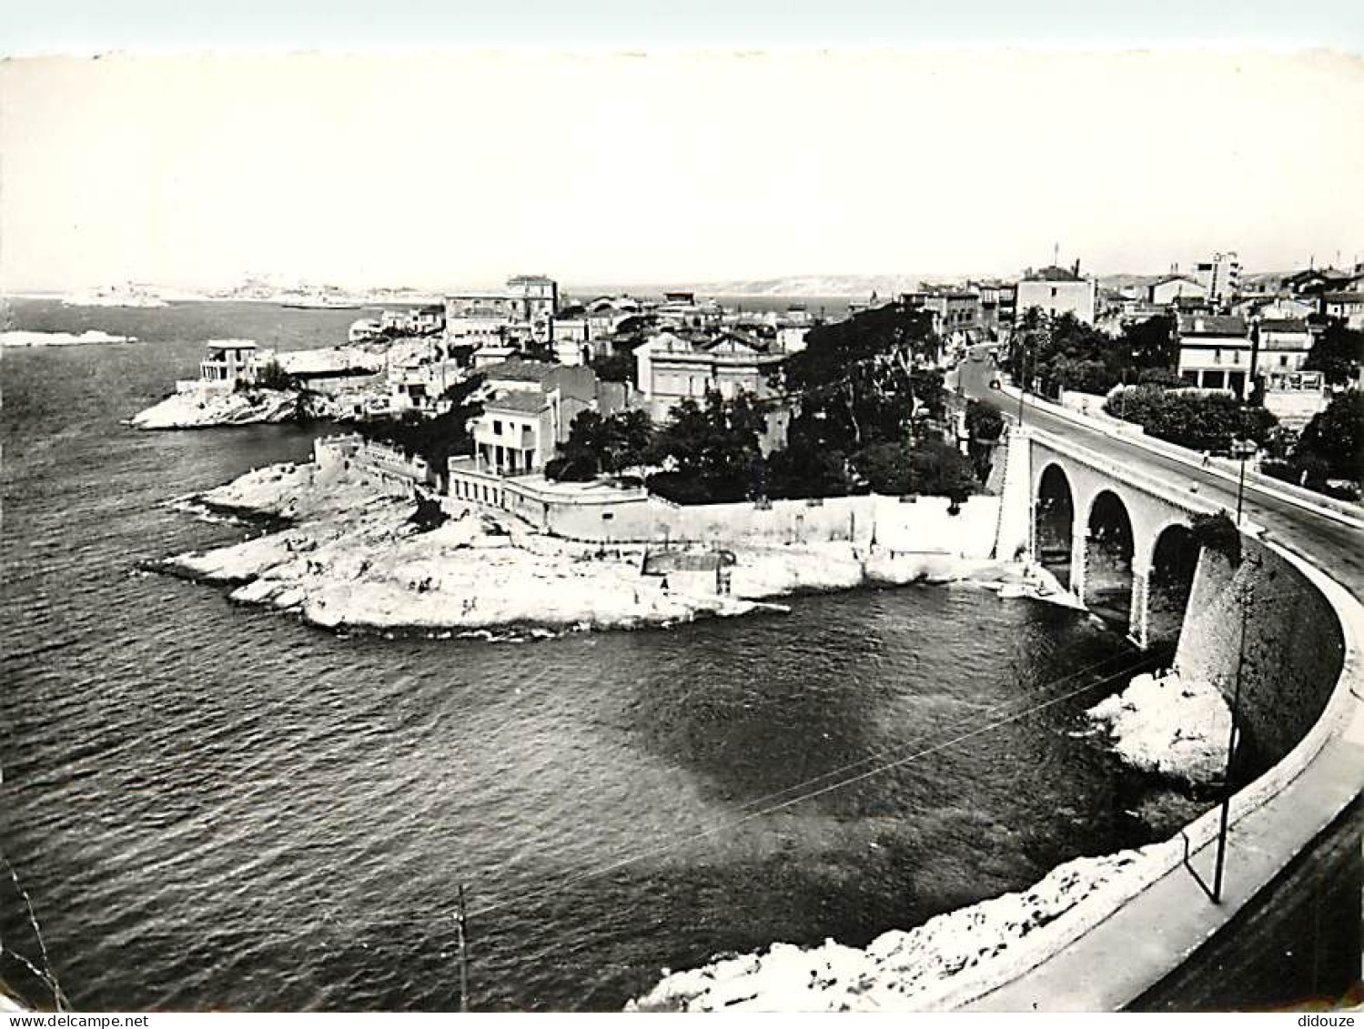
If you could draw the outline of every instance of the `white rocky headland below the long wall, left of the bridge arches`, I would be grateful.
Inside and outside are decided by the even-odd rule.
[[[851,544],[731,545],[731,589],[642,575],[648,548],[546,536],[502,512],[446,499],[421,529],[413,500],[360,469],[276,465],[195,497],[276,526],[154,567],[231,587],[241,604],[330,630],[426,632],[507,627],[640,628],[783,611],[771,598],[868,585],[968,581],[1008,596],[1045,592],[1022,566],[948,555],[861,552]],[[431,504],[435,504],[435,499]],[[708,585],[708,583],[707,583]]]

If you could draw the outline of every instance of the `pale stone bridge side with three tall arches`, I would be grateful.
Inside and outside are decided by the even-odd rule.
[[[1028,559],[1053,571],[1082,604],[1123,623],[1143,649],[1155,642],[1153,600],[1159,594],[1166,604],[1173,594],[1178,611],[1161,619],[1161,635],[1177,632],[1198,564],[1188,545],[1192,517],[1211,506],[1058,437],[1024,436]]]

